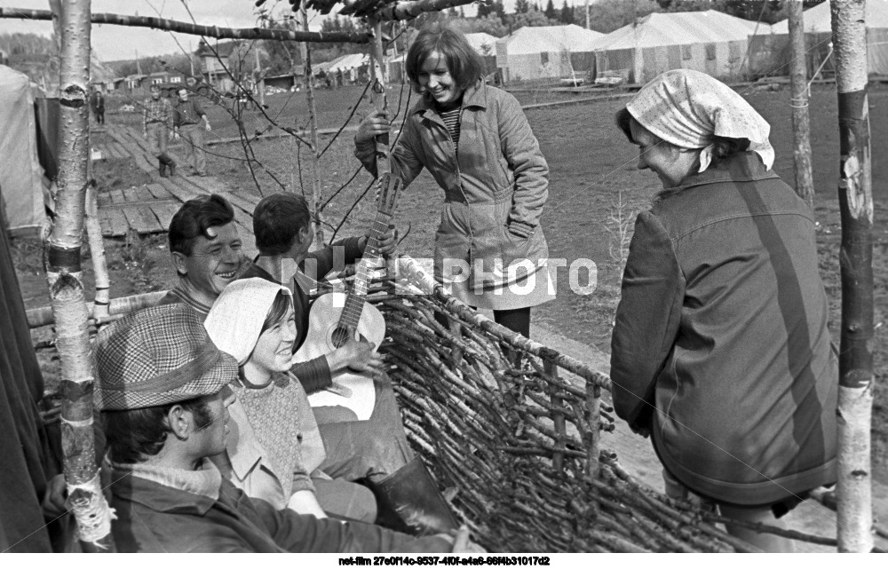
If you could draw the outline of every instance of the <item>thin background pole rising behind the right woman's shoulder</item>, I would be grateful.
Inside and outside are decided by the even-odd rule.
[[[808,119],[807,58],[805,57],[805,20],[802,0],[789,0],[789,83],[792,90],[793,165],[796,193],[814,209],[814,181],[811,170],[811,122]]]

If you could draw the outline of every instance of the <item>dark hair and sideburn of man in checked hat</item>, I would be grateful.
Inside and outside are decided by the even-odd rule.
[[[102,431],[112,462],[136,464],[145,462],[161,452],[167,435],[172,432],[164,421],[170,409],[181,405],[194,414],[194,426],[203,429],[210,425],[210,407],[207,403],[215,396],[206,396],[167,405],[102,411]]]

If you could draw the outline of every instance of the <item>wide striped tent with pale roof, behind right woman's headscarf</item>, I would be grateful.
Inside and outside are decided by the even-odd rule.
[[[652,13],[595,43],[597,75],[647,83],[670,69],[695,69],[723,81],[747,75],[749,36],[770,26],[723,12]]]

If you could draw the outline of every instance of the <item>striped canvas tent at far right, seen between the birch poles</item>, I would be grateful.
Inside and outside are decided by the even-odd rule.
[[[832,24],[829,2],[805,10],[805,54],[808,76],[821,68],[834,71],[829,58]],[[888,75],[888,0],[867,0],[867,67],[869,75]],[[755,75],[789,75],[789,21],[777,22],[770,36],[757,36],[749,58]]]

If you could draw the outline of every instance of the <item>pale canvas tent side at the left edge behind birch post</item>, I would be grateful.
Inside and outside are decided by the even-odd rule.
[[[44,222],[36,136],[28,76],[0,65],[0,214],[15,233],[36,231]]]

